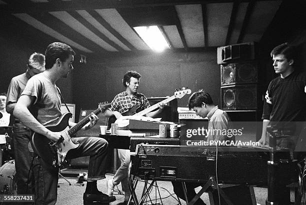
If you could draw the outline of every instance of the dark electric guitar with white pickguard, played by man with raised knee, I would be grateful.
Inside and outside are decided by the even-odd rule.
[[[94,114],[104,112],[110,104],[107,102],[99,103]],[[46,136],[34,132],[31,138],[31,145],[36,154],[47,164],[53,168],[58,168],[65,159],[67,152],[70,149],[77,148],[79,143],[75,144],[72,142],[71,137],[74,137],[76,132],[82,128],[88,121],[90,121],[90,115],[81,119],[77,124],[71,128],[68,127],[68,120],[71,117],[70,112],[66,112],[59,118],[58,122],[52,126],[46,126],[50,131],[60,132],[61,138],[58,143],[52,145],[54,141],[48,139]]]

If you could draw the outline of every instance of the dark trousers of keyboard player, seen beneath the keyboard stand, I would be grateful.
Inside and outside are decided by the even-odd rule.
[[[191,201],[192,198],[196,195],[194,188],[201,185],[201,183],[193,183],[193,182],[185,182],[186,184],[186,191],[187,191],[187,200]],[[181,199],[185,200],[185,195],[183,191],[183,187],[180,181],[172,181],[173,191],[174,193]],[[195,203],[196,205],[203,205],[205,204],[202,199],[198,198]]]

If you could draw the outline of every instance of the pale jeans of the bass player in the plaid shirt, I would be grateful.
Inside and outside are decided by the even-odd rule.
[[[128,166],[130,162],[129,150],[118,149],[118,157],[120,159],[121,164],[120,167],[117,169],[116,173],[114,174],[112,182],[116,185],[121,182],[122,190],[125,193],[129,193],[128,189]]]

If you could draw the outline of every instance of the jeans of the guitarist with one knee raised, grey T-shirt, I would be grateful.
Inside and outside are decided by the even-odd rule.
[[[107,141],[98,137],[73,137],[74,143],[79,143],[75,149],[67,152],[65,159],[79,156],[90,156],[88,165],[88,180],[105,178]],[[38,196],[35,196],[36,204],[55,204],[57,199],[57,170],[48,168],[41,158],[34,159],[35,180],[37,181]],[[40,186],[40,187],[39,187]]]

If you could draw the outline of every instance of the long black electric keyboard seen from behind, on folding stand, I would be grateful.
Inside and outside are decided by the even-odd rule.
[[[288,151],[279,151],[280,183],[297,180],[297,162]],[[131,174],[156,180],[206,182],[211,176],[219,183],[267,184],[266,149],[142,144],[138,154],[131,155]],[[216,168],[217,163],[217,170]],[[216,174],[217,173],[217,174]]]

